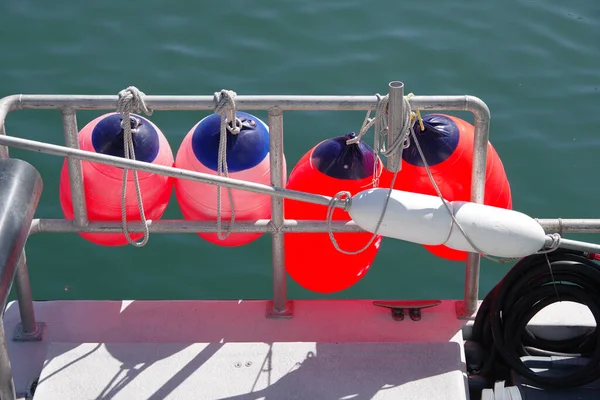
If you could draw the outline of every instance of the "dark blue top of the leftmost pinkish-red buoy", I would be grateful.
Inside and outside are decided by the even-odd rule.
[[[125,157],[121,120],[121,114],[112,114],[96,124],[92,131],[92,145],[96,153]],[[131,135],[135,159],[151,163],[160,147],[158,132],[150,121],[139,115],[130,114],[130,124],[131,129],[135,129]]]

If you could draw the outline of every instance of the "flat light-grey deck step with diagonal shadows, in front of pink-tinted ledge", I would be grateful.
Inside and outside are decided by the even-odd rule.
[[[34,400],[466,399],[439,343],[51,343]]]

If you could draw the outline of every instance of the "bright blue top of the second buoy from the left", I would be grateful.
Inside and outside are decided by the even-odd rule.
[[[269,130],[254,115],[236,111],[242,122],[241,131],[234,135],[227,131],[227,170],[244,171],[260,164],[269,154]],[[218,171],[221,116],[212,114],[204,118],[192,136],[194,155],[204,166]]]

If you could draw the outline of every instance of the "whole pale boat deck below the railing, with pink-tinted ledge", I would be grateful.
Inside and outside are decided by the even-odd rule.
[[[291,319],[266,318],[266,301],[42,301],[43,340],[16,342],[12,302],[4,326],[17,392],[39,377],[34,400],[467,399],[471,322],[455,303],[395,321],[366,300],[295,301]],[[561,306],[534,323],[595,325]]]

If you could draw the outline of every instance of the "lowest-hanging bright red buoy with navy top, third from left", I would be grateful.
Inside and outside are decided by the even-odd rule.
[[[364,142],[346,144],[354,133],[325,140],[313,147],[296,164],[287,188],[326,196],[340,191],[351,194],[373,187],[373,149]],[[378,162],[379,173],[382,164]],[[285,218],[326,220],[327,207],[288,200]],[[333,220],[350,221],[347,212],[336,209]],[[371,239],[371,233],[336,233],[340,248],[356,251]],[[381,244],[377,236],[369,247],[357,255],[339,252],[327,233],[286,233],[285,265],[300,286],[318,293],[332,293],[349,288],[365,276]]]

